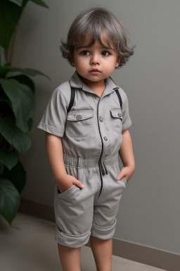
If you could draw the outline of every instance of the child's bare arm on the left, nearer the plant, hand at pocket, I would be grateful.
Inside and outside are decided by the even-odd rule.
[[[61,138],[52,135],[51,133],[46,133],[45,146],[51,171],[53,172],[53,177],[58,185],[60,193],[66,191],[73,186],[73,184],[80,188],[84,188],[81,181],[78,181],[74,176],[68,175],[65,170]]]

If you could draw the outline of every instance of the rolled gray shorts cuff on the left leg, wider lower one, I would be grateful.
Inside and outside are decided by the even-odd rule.
[[[70,248],[79,248],[88,243],[90,235],[91,231],[79,235],[65,234],[63,231],[60,231],[58,227],[56,227],[55,240],[62,246],[68,246]]]

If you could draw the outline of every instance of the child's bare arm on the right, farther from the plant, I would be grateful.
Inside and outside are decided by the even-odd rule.
[[[121,169],[120,174],[117,175],[117,180],[125,177],[125,179],[129,181],[135,169],[134,153],[129,130],[122,131],[122,145],[119,154],[124,167]]]

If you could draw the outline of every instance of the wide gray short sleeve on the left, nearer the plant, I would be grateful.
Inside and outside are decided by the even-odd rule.
[[[67,119],[67,102],[60,90],[56,89],[51,95],[49,104],[37,128],[53,135],[63,137]]]

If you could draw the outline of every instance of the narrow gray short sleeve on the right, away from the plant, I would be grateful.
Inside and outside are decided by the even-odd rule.
[[[124,131],[131,126],[132,122],[129,116],[129,103],[124,90],[120,92],[120,95],[122,97],[122,131]]]

